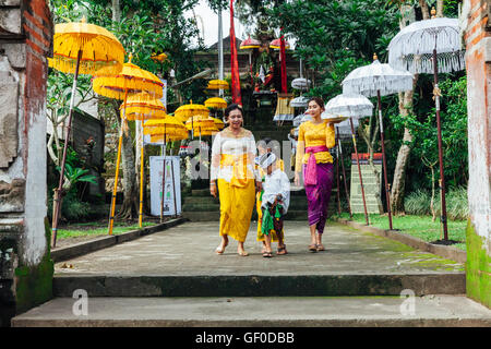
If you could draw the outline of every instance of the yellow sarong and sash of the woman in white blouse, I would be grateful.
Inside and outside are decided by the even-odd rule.
[[[254,209],[254,177],[248,173],[247,155],[221,155],[220,166],[233,166],[230,183],[218,179],[220,198],[220,236],[227,234],[244,242]]]

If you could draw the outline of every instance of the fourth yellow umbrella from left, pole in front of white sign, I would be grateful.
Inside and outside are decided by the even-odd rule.
[[[152,135],[158,135],[160,140],[164,142],[164,164],[163,164],[163,172],[161,172],[161,194],[160,194],[160,222],[164,220],[164,195],[165,195],[165,178],[166,178],[166,147],[167,141],[169,139],[176,140],[182,136],[182,140],[185,140],[188,136],[184,132],[187,132],[185,127],[182,122],[180,122],[176,117],[167,116],[164,119],[153,119],[148,120],[143,124],[143,133]],[[168,139],[169,136],[169,139]],[[176,188],[173,180],[173,166],[170,166],[172,172],[172,188],[173,188],[173,212],[177,215],[177,204],[176,204]]]

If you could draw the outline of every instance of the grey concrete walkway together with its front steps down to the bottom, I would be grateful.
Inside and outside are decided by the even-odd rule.
[[[57,298],[12,325],[491,326],[491,310],[464,297],[463,264],[332,222],[327,250],[311,253],[306,222],[285,228],[289,253],[273,258],[255,224],[241,257],[232,240],[215,254],[218,222],[187,222],[58,263]],[[81,289],[88,313],[76,316]]]

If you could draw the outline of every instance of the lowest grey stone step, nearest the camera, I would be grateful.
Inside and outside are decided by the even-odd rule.
[[[91,296],[91,293],[89,293]],[[88,298],[87,313],[73,298],[57,298],[12,318],[13,327],[490,327],[491,310],[464,296],[275,298]],[[267,304],[267,311],[265,306]],[[414,305],[412,305],[414,304]],[[288,329],[282,330],[288,333]],[[202,334],[203,330],[200,330]],[[226,330],[224,332],[226,333]],[[237,336],[237,335],[236,335]],[[243,335],[232,344],[243,344]],[[196,336],[180,338],[195,346]],[[297,341],[298,342],[298,338]]]

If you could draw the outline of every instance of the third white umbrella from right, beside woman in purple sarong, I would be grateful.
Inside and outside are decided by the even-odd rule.
[[[360,158],[358,156],[357,141],[355,137],[355,127],[352,119],[360,119],[363,117],[369,117],[373,111],[373,104],[367,97],[362,95],[338,95],[333,99],[330,99],[325,105],[325,111],[334,115],[342,115],[349,117],[349,124],[351,127],[351,139],[355,147],[355,153],[357,156],[358,176],[360,178],[361,186],[361,197],[363,200],[364,219],[367,225],[369,225],[368,212],[367,212],[367,201],[364,198],[364,188],[363,178],[361,176]]]

